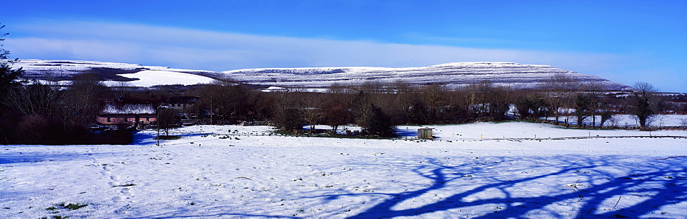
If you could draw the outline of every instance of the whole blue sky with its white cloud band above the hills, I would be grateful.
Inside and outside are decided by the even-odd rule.
[[[687,92],[687,1],[1,1],[13,58],[226,71],[552,65]]]

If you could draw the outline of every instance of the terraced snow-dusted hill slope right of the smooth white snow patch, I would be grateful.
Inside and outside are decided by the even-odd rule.
[[[295,69],[240,69],[224,71],[234,80],[272,86],[322,88],[339,82],[396,82],[411,84],[446,84],[459,87],[489,80],[495,84],[514,88],[536,88],[556,73],[565,73],[581,82],[601,82],[609,90],[628,90],[618,84],[583,73],[576,73],[548,65],[525,65],[513,62],[454,62],[429,67],[326,67]]]

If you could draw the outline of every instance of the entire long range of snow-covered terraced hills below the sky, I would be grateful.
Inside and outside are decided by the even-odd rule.
[[[495,84],[513,88],[536,88],[556,73],[564,73],[581,82],[600,82],[607,90],[627,91],[624,84],[548,65],[526,65],[513,62],[454,62],[429,67],[319,67],[239,69],[232,71],[203,71],[170,69],[168,67],[143,66],[116,62],[75,60],[20,60],[14,67],[26,70],[24,79],[69,80],[77,73],[97,73],[103,80],[133,82],[142,87],[170,84],[198,84],[212,79],[230,78],[245,84],[266,87],[325,88],[333,83],[359,84],[363,82],[392,83],[405,81],[410,84],[445,84],[460,87],[489,80]],[[179,73],[183,73],[181,76]],[[128,75],[127,75],[128,74]],[[150,74],[155,74],[151,76]],[[202,76],[203,78],[190,75]],[[184,78],[184,79],[181,79]],[[212,79],[211,79],[212,78]],[[152,80],[151,80],[152,79]],[[145,82],[144,82],[145,80]]]

